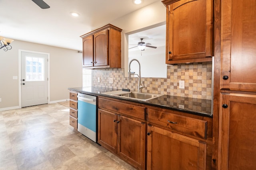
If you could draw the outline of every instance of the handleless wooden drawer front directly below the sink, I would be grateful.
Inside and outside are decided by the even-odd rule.
[[[113,113],[119,113],[120,115],[126,115],[128,117],[132,116],[133,118],[145,120],[145,107],[102,98],[99,98],[98,100],[98,107],[101,109],[108,109],[113,111]]]

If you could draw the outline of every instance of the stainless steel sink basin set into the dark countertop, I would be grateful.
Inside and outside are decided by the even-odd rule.
[[[103,94],[119,96],[120,98],[129,98],[129,99],[140,100],[140,101],[148,101],[148,100],[163,96],[163,94],[153,94],[153,93],[143,93],[143,92],[126,92],[126,91],[122,91],[122,90],[106,92]]]

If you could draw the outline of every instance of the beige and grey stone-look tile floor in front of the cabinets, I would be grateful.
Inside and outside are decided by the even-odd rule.
[[[69,102],[0,111],[0,170],[134,170],[69,125]]]

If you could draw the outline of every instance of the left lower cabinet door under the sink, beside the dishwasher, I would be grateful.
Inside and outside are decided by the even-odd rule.
[[[117,152],[117,115],[98,109],[98,143]]]

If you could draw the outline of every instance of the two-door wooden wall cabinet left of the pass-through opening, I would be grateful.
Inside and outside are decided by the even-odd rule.
[[[83,39],[83,67],[121,68],[121,31],[108,24],[80,36]]]

